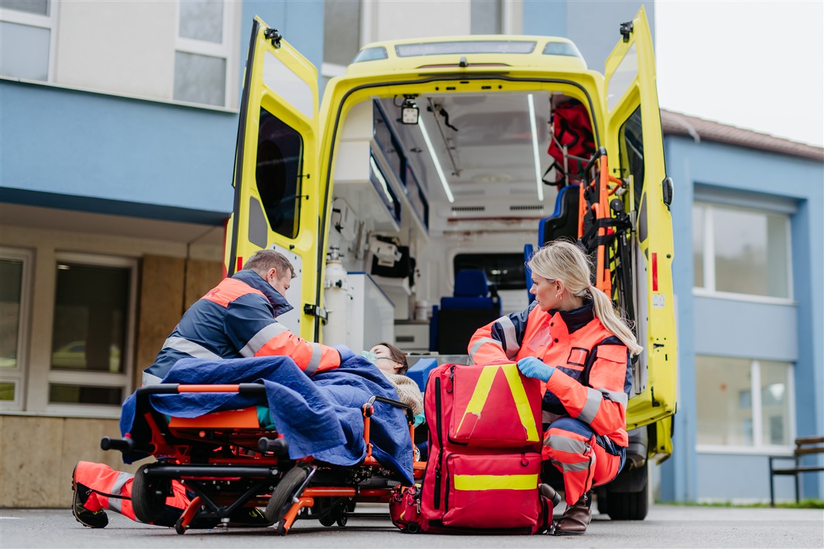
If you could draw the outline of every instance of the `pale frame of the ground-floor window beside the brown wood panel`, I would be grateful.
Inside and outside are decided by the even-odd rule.
[[[138,259],[127,258],[119,256],[86,254],[81,252],[61,252],[57,251],[54,254],[54,270],[57,271],[57,265],[62,262],[82,263],[84,265],[99,266],[99,267],[121,267],[129,268],[129,311],[126,315],[126,325],[124,327],[126,332],[126,344],[121,351],[121,358],[124,361],[124,371],[120,374],[101,371],[71,371],[71,370],[52,370],[51,365],[45,365],[45,375],[43,378],[44,386],[39,390],[44,391],[46,395],[49,394],[50,384],[69,384],[69,385],[85,385],[91,387],[118,387],[123,388],[123,398],[133,391],[133,356],[135,347],[135,330],[137,327],[137,305],[138,305]],[[57,284],[57,275],[54,275],[54,283]],[[56,293],[54,298],[56,298]],[[52,302],[52,311],[54,318],[54,299]],[[49,345],[51,341],[49,341]],[[46,398],[44,413],[45,415],[56,416],[88,416],[92,410],[101,412],[101,416],[119,417],[121,408],[119,406],[110,406],[106,404],[72,404],[72,403],[55,403],[49,402],[48,396]],[[109,412],[109,413],[106,413]]]

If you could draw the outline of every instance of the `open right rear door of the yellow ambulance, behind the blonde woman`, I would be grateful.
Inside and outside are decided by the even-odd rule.
[[[620,32],[622,39],[606,59],[604,72],[606,139],[610,167],[620,166],[620,177],[632,181],[626,209],[634,226],[636,326],[644,346],[634,368],[627,427],[658,421],[664,432],[651,427],[649,454],[666,458],[672,453],[672,420],[661,420],[675,413],[677,381],[672,180],[664,167],[653,40],[644,7]]]

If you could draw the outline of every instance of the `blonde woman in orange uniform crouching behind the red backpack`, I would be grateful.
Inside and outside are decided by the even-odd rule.
[[[479,328],[469,354],[475,364],[517,361],[523,375],[545,382],[543,457],[562,473],[567,502],[555,535],[583,534],[592,486],[610,482],[624,464],[630,353],[643,347],[610,298],[590,285],[578,246],[552,242],[528,265],[535,300]],[[555,495],[548,485],[542,490]]]

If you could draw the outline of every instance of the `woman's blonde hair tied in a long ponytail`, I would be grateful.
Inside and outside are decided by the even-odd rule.
[[[632,330],[616,312],[610,297],[589,283],[592,263],[576,244],[566,240],[553,240],[539,249],[528,264],[529,268],[541,277],[564,281],[572,295],[592,295],[595,316],[604,328],[620,339],[633,356],[644,351]]]

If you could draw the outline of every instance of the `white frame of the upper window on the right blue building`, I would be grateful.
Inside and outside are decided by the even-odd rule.
[[[693,286],[692,295],[697,297],[711,297],[724,300],[747,301],[751,303],[763,303],[770,305],[796,305],[795,291],[793,284],[793,246],[792,246],[792,219],[791,212],[783,210],[770,210],[758,207],[740,207],[724,202],[711,202],[708,200],[696,199],[692,202],[693,210],[695,207],[704,208],[704,226],[703,226],[703,240],[701,246],[703,247],[704,259],[704,286],[695,286],[695,265],[693,265]],[[757,295],[757,294],[741,294],[731,291],[719,291],[715,289],[715,235],[714,235],[714,209],[720,210],[737,210],[738,212],[748,212],[763,215],[784,216],[784,246],[787,253],[787,294],[789,297],[774,297],[771,295]],[[695,230],[696,227],[693,227]]]

